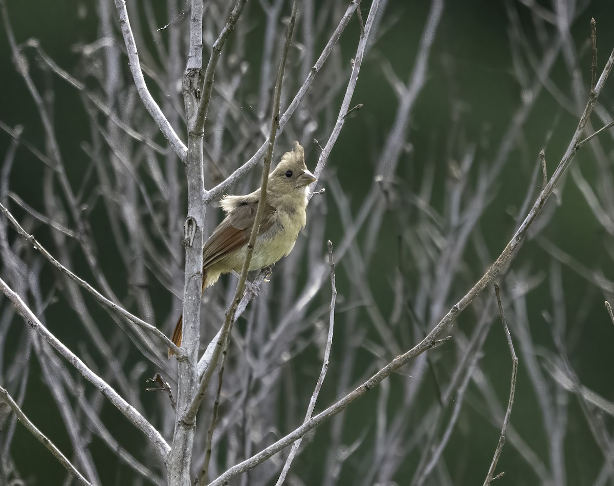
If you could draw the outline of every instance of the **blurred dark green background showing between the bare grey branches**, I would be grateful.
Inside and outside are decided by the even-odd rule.
[[[545,9],[551,8],[550,2],[538,3],[542,4]],[[77,43],[92,42],[98,36],[97,15],[90,2],[9,0],[6,1],[6,4],[17,42],[25,42],[29,37],[36,37],[56,63],[69,72],[78,72],[79,56],[72,52],[72,46]],[[363,2],[363,4],[363,17],[366,18],[368,2]],[[448,0],[445,2],[443,18],[437,29],[435,44],[430,55],[427,82],[413,109],[410,129],[406,136],[407,147],[397,170],[400,187],[408,192],[418,191],[426,164],[435,164],[436,182],[433,187],[432,202],[433,207],[440,211],[444,208],[437,207],[437,204],[438,202],[443,204],[441,201],[445,196],[451,161],[458,161],[457,159],[462,156],[468,144],[476,144],[477,162],[493,160],[502,138],[506,136],[510,117],[521,104],[520,99],[523,93],[513,71],[510,19],[506,13],[506,5],[513,6],[519,12],[519,21],[526,27],[525,31],[528,34],[524,42],[529,45],[537,45],[538,33],[532,25],[529,10],[518,2],[511,0],[509,2],[486,0]],[[165,25],[164,2],[153,0],[151,6],[159,13],[160,26]],[[352,103],[352,105],[362,103],[363,107],[355,117],[349,118],[346,122],[329,161],[329,170],[336,172],[341,186],[351,196],[354,212],[360,207],[363,196],[371,187],[373,171],[370,167],[375,166],[375,160],[371,154],[377,154],[381,150],[394,121],[397,108],[394,91],[383,74],[382,59],[391,64],[400,79],[403,81],[408,79],[413,69],[418,42],[429,6],[430,2],[425,0],[389,1],[376,42],[363,61]],[[251,35],[257,39],[262,35],[263,17],[257,5],[254,4],[251,7],[249,21],[254,26]],[[573,21],[571,34],[580,53],[581,76],[586,83],[590,73],[589,21],[591,17],[596,18],[597,21],[598,72],[600,72],[608,53],[614,47],[614,29],[611,28],[614,21],[614,2],[584,1],[578,2],[577,8],[581,13]],[[554,30],[551,25],[548,26],[548,29],[550,29],[550,34]],[[23,80],[15,72],[5,29],[0,30],[2,72],[0,120],[11,127],[18,124],[23,125],[23,137],[34,146],[41,147],[44,138],[36,107],[23,85]],[[344,58],[353,55],[357,36],[358,26],[354,18],[341,38],[341,52]],[[248,61],[254,60],[253,62],[257,63],[258,46],[259,44],[254,43],[252,48],[248,48],[246,53]],[[33,77],[41,86],[45,83],[53,86],[56,98],[54,113],[56,134],[67,163],[68,177],[71,182],[78,185],[87,169],[87,164],[83,163],[82,141],[90,137],[86,115],[84,110],[80,109],[79,96],[73,88],[48,72],[34,68]],[[255,70],[254,77],[257,77]],[[572,93],[573,83],[561,55],[555,61],[550,81],[565,95],[570,96]],[[340,99],[332,101],[338,103]],[[606,110],[612,112],[614,80],[611,79],[608,82],[600,102]],[[570,113],[561,106],[552,93],[543,89],[538,96],[536,106],[530,111],[527,121],[522,126],[520,135],[522,141],[511,151],[501,176],[495,180],[490,192],[492,199],[488,210],[480,219],[479,224],[492,260],[513,234],[514,217],[523,203],[530,176],[535,164],[538,163],[540,149],[545,148],[548,170],[551,173],[567,148],[567,143],[576,125],[577,114]],[[594,119],[594,126],[599,128],[601,123]],[[458,135],[454,143],[450,144],[449,135],[452,130],[457,130]],[[181,136],[185,139],[183,134]],[[614,149],[612,132],[605,133],[600,138],[607,149],[611,171],[612,150]],[[9,142],[9,136],[4,132],[0,133],[0,154],[6,153]],[[313,167],[315,162],[314,156],[309,158],[308,155],[308,166]],[[599,171],[591,152],[588,149],[582,150],[575,163],[580,165],[583,175],[591,186],[595,187],[598,183]],[[364,169],[365,166],[368,169]],[[357,169],[358,167],[360,169]],[[12,168],[10,189],[34,208],[42,209],[39,174],[41,174],[40,161],[37,161],[26,150],[20,150]],[[476,174],[472,174],[472,177],[475,176]],[[541,177],[538,177],[538,180],[541,183]],[[330,196],[327,197],[330,198]],[[561,203],[556,208],[556,214],[543,235],[562,250],[573,255],[587,268],[614,279],[612,235],[604,231],[574,184],[568,181],[564,185],[559,200]],[[332,203],[330,207],[333,207]],[[402,229],[397,224],[398,215],[394,214],[399,210],[402,208],[393,207],[385,215],[383,231],[379,234],[377,241],[378,257],[376,257],[376,263],[371,263],[368,270],[371,287],[379,290],[375,299],[383,309],[388,309],[392,305],[391,273],[402,265],[398,251],[398,239]],[[93,213],[94,217],[95,215],[96,212]],[[107,224],[104,221],[91,223],[99,228],[104,228]],[[111,238],[111,233],[108,234]],[[339,215],[335,209],[329,210],[326,237],[335,242],[340,241],[341,236]],[[41,239],[45,242],[44,236]],[[109,241],[108,245],[104,244],[104,241],[98,241],[98,246],[100,249],[110,249],[112,241]],[[111,251],[108,255],[101,255],[103,261],[111,262],[112,259]],[[476,266],[468,270],[467,281],[456,282],[453,285],[453,295],[456,298],[464,295],[472,278],[478,278],[483,272],[475,255],[467,255],[466,261],[475,261]],[[530,272],[538,274],[549,272],[550,266],[551,260],[542,247],[535,241],[527,241],[512,264],[512,269],[530,268]],[[409,268],[407,271],[411,272],[412,269]],[[83,263],[82,268],[76,268],[76,272],[87,277],[87,269]],[[117,293],[123,295],[125,291],[123,275],[114,274],[109,267],[106,270],[106,276],[111,285],[118,289]],[[52,272],[44,273],[44,282],[47,285],[51,285],[53,278]],[[614,326],[603,306],[604,295],[567,266],[562,267],[562,282],[565,296],[564,311],[569,320],[569,333],[573,336],[567,343],[570,361],[586,387],[614,401],[614,353],[612,352]],[[346,274],[338,272],[337,288],[340,293],[343,293],[344,288],[348,286]],[[159,293],[161,312],[168,312],[168,296],[165,296],[163,289]],[[326,293],[322,293],[319,297],[321,303],[325,303],[327,298]],[[1,306],[8,305],[4,298],[0,300],[0,303]],[[550,288],[547,279],[527,296],[527,306],[530,329],[535,344],[546,349],[553,349],[548,322],[542,317],[543,312],[551,312]],[[580,309],[588,310],[581,314],[581,318],[577,318],[580,315]],[[101,316],[105,315],[102,311],[93,310],[93,312],[98,312]],[[430,316],[429,325],[432,326],[437,322],[438,317],[441,316]],[[60,304],[50,307],[47,319],[50,322],[61,322],[61,325],[55,328],[56,335],[63,339],[69,347],[76,349],[74,346],[79,341],[77,335],[79,330],[76,329],[73,317],[66,307]],[[365,325],[366,322],[363,320]],[[463,326],[471,328],[475,325],[472,315],[464,314],[458,325],[461,328]],[[514,323],[510,322],[512,335],[513,326]],[[108,329],[107,326],[104,332],[109,332]],[[10,339],[18,339],[17,331],[15,329],[13,331],[14,333],[9,335],[9,342]],[[376,334],[368,331],[368,336],[375,338]],[[19,358],[10,356],[10,346],[7,349],[9,351],[5,356],[6,360]],[[500,382],[497,382],[495,388],[499,393],[500,401],[505,403],[509,386],[510,359],[498,323],[493,326],[484,350],[481,366],[503,377]],[[340,344],[335,344],[335,351],[337,353],[343,351]],[[445,351],[441,354],[441,361],[436,366],[437,372],[448,379],[449,371],[446,372],[446,363],[453,361],[446,360]],[[136,356],[132,358],[136,361]],[[370,355],[365,353],[361,358],[370,360]],[[332,358],[330,376],[335,376],[338,372],[335,370],[336,360],[336,357]],[[308,350],[305,355],[297,358],[293,366],[300,369],[305,380],[309,380],[309,383],[314,382],[320,366],[317,353],[315,350]],[[357,363],[355,376],[360,376],[364,368],[366,366]],[[151,376],[155,370],[151,371],[146,375]],[[49,414],[56,414],[55,404],[45,386],[36,384],[38,374],[36,370],[33,370],[33,378],[23,409],[34,423],[39,425],[44,423],[41,428],[54,439],[60,449],[70,450],[70,442],[63,431],[61,421],[49,422],[47,420]],[[395,393],[398,393],[395,390],[402,389],[395,384],[398,385],[399,380],[404,379],[404,376],[393,375],[389,380],[393,397]],[[333,378],[330,380],[333,381]],[[433,387],[433,395],[437,393],[435,385],[427,385],[427,388],[430,386]],[[305,397],[297,397],[297,401],[306,403],[306,397],[310,393],[310,390],[305,390]],[[331,403],[336,397],[338,393],[334,387],[325,387],[316,409],[322,409],[325,404]],[[397,398],[401,399],[401,397]],[[370,393],[345,412],[347,414],[344,429],[344,433],[347,434],[344,440],[346,444],[355,441],[360,436],[357,430],[364,430],[366,436],[360,447],[369,447],[368,444],[373,440],[375,423],[373,407],[376,399],[377,395]],[[577,400],[569,396],[569,402],[569,431],[573,431],[573,434],[569,440],[565,441],[565,457],[569,459],[565,465],[567,484],[593,484],[594,477],[602,466],[604,458],[594,442]],[[425,407],[428,404],[429,402],[426,402]],[[110,416],[117,413],[110,410],[109,407],[106,407],[105,411]],[[606,417],[606,420],[609,421],[607,423],[611,435],[612,418]],[[529,385],[523,363],[519,369],[512,423],[524,438],[530,439],[534,449],[542,454],[542,460],[547,462],[548,452],[543,449],[546,447],[546,442],[542,436],[542,418],[535,412],[534,391]],[[307,485],[322,484],[321,465],[326,460],[327,428],[328,425],[325,424],[317,430],[316,435],[311,439],[313,442],[306,447],[293,466],[295,472]],[[138,431],[126,426],[123,422],[118,423],[115,432],[122,436],[122,442],[126,444],[130,441],[139,444],[144,440]],[[467,437],[471,438],[470,441]],[[484,418],[477,414],[474,407],[463,407],[456,431],[445,450],[447,463],[451,468],[456,468],[454,469],[455,474],[461,474],[460,477],[453,477],[453,484],[469,485],[483,482],[498,437],[498,429],[486,423]],[[339,484],[356,484],[356,476],[352,469],[360,471],[365,468],[365,465],[361,463],[360,447],[344,465]],[[12,450],[20,470],[26,474],[26,479],[29,471],[30,478],[33,479],[32,484],[62,484],[65,474],[61,466],[43,449],[42,445],[34,441],[25,429],[18,428]],[[118,466],[114,456],[96,441],[91,445],[91,450],[93,455],[108,457],[108,469],[101,468],[100,471],[104,484],[126,484],[122,479],[125,477],[123,476],[126,472],[125,466]],[[404,478],[411,478],[417,461],[417,457],[408,457],[395,475],[397,484],[409,484],[403,482]],[[499,479],[497,484],[538,484],[537,477],[532,474],[523,458],[519,457],[511,447],[503,449],[497,470],[506,472],[505,477]]]

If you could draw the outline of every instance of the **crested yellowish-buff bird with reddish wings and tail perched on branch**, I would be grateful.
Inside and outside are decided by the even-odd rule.
[[[265,209],[254,244],[250,270],[265,268],[286,257],[307,223],[308,186],[317,182],[305,164],[305,150],[294,142],[268,176]],[[247,242],[254,226],[262,188],[244,196],[225,195],[220,207],[226,217],[203,246],[203,290],[222,274],[240,272],[247,255]],[[183,315],[179,317],[173,343],[181,347]],[[168,357],[173,356],[169,348]]]

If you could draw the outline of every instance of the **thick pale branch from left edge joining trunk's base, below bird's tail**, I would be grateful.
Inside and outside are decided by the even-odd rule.
[[[153,446],[160,454],[160,456],[166,460],[166,456],[169,452],[171,452],[171,448],[166,443],[164,438],[160,435],[160,433],[149,423],[147,419],[143,417],[138,410],[136,410],[131,404],[125,401],[125,399],[120,396],[117,391],[115,391],[109,384],[107,384],[101,377],[99,377],[95,372],[91,371],[83,361],[81,361],[74,353],[71,352],[58,338],[53,336],[53,334],[38,320],[36,315],[29,309],[29,307],[25,304],[21,297],[9,287],[9,285],[4,282],[4,280],[0,279],[0,290],[6,295],[9,300],[15,306],[15,309],[21,314],[21,317],[24,318],[26,323],[33,328],[45,341],[49,342],[64,358],[66,358],[72,366],[74,366],[77,371],[82,374],[82,376],[88,380],[91,384],[93,384],[104,396],[106,396],[109,401],[120,411],[123,415],[125,415],[134,426],[136,426],[139,430],[144,433],[147,438],[149,438],[150,442],[152,442]]]

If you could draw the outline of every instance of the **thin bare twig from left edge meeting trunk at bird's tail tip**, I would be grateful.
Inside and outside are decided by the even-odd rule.
[[[112,311],[117,312],[117,314],[123,315],[123,317],[127,318],[134,324],[149,331],[154,336],[156,336],[158,339],[160,339],[160,341],[162,341],[166,346],[171,347],[174,351],[179,351],[179,348],[176,345],[174,345],[173,342],[170,339],[168,339],[166,335],[162,333],[157,327],[152,326],[151,324],[148,324],[144,320],[136,317],[136,315],[130,314],[130,312],[126,311],[126,309],[124,309],[123,307],[120,307],[117,304],[115,304],[113,301],[107,299],[98,290],[96,290],[90,284],[88,284],[84,279],[77,277],[68,268],[63,266],[63,264],[61,264],[58,260],[53,258],[51,253],[45,250],[45,248],[37,241],[37,239],[34,236],[32,236],[31,234],[28,234],[26,230],[24,230],[21,227],[21,225],[17,222],[14,215],[12,215],[10,211],[1,203],[0,203],[0,210],[4,213],[4,215],[6,215],[10,224],[13,225],[15,230],[17,230],[17,233],[19,233],[27,241],[29,241],[35,249],[39,250],[39,252],[42,253],[43,257],[47,258],[47,260],[49,260],[53,264],[53,266],[55,266],[55,268],[57,268],[63,274],[66,274],[68,277],[74,280],[74,282],[76,282],[81,287],[85,288],[85,290],[87,290],[89,293],[91,293],[91,295],[93,295],[96,301],[103,304],[105,307],[108,307]]]

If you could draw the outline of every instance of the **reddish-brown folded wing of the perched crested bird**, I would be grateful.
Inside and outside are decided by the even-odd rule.
[[[257,207],[257,200],[237,206],[233,212],[217,226],[216,230],[211,233],[211,236],[209,236],[209,239],[203,247],[204,269],[219,262],[230,255],[230,253],[241,249],[241,247],[249,242],[249,235],[252,232],[252,225],[254,225]],[[275,208],[266,203],[258,234],[270,230],[271,226],[273,226],[274,214]]]

